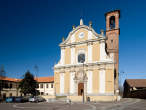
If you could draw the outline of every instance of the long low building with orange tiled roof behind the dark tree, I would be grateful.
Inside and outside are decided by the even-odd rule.
[[[54,77],[38,77],[35,78],[38,83],[37,90],[39,91],[39,95],[48,99],[54,98],[55,90],[54,90]],[[16,78],[1,78],[0,77],[0,86],[2,86],[1,96],[3,99],[11,96],[23,96],[18,88],[19,82],[21,79]]]

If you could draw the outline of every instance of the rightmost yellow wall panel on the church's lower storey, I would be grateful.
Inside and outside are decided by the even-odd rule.
[[[105,83],[105,92],[110,93],[114,92],[114,70],[106,70],[106,83]]]

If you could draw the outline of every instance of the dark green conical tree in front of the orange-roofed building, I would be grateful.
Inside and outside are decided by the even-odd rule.
[[[37,82],[29,71],[25,73],[24,78],[20,81],[19,88],[24,95],[37,95]]]

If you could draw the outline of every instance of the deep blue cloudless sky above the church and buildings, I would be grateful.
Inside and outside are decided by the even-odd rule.
[[[9,77],[27,70],[38,76],[53,75],[60,58],[58,44],[72,25],[93,22],[105,30],[107,11],[121,10],[120,72],[123,78],[146,78],[145,0],[4,0],[0,1],[0,64]]]

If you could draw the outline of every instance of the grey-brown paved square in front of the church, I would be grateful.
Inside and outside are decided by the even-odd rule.
[[[119,102],[96,103],[1,103],[0,110],[146,110],[146,100],[122,99]]]

